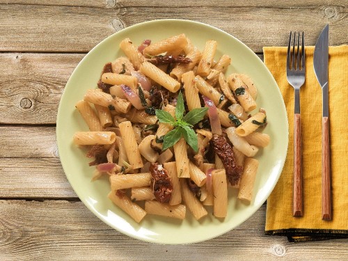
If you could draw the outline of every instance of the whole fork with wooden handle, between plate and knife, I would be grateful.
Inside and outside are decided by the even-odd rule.
[[[300,88],[306,77],[306,61],[304,48],[304,33],[302,32],[301,55],[300,33],[297,35],[297,48],[295,48],[296,32],[294,33],[293,45],[292,32],[290,32],[289,45],[287,47],[287,81],[294,87],[294,189],[293,189],[293,216],[303,215],[302,198],[302,161],[301,161],[301,114],[300,114]],[[296,51],[296,53],[295,53]]]

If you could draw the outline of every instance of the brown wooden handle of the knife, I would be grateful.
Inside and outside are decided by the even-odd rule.
[[[329,118],[322,120],[322,219],[332,219],[330,177],[330,126]]]

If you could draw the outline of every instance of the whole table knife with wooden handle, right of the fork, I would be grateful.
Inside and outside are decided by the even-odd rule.
[[[322,219],[332,219],[329,141],[329,24],[320,33],[314,49],[315,76],[322,87]]]

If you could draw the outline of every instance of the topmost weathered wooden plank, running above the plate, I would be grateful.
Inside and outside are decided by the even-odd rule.
[[[136,3],[136,6],[129,2]],[[336,5],[322,2],[315,5],[311,1],[306,5],[306,1],[302,1],[301,8],[293,8],[284,6],[282,1],[272,1],[274,6],[267,3],[255,9],[249,6],[249,2],[242,5],[242,1],[239,1],[239,6],[234,6],[226,0],[217,7],[202,6],[199,13],[180,6],[178,1],[173,6],[154,1],[150,7],[145,1],[122,1],[114,9],[1,4],[0,51],[88,52],[106,36],[125,26],[164,18],[191,19],[211,24],[235,35],[254,52],[262,52],[263,46],[286,46],[290,24],[293,31],[306,32],[308,45],[315,44],[326,23],[331,25],[331,45],[347,43],[348,36],[342,33],[348,26],[345,1],[340,0]]]

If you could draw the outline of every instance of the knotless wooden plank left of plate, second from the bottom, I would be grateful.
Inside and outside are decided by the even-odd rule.
[[[0,173],[0,198],[77,198],[57,158],[0,158]]]

